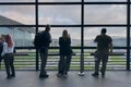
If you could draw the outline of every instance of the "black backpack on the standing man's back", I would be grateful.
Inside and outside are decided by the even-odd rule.
[[[43,34],[41,33],[37,33],[35,35],[35,38],[34,38],[34,46],[35,46],[35,48],[40,48],[43,46],[41,41],[43,41]]]

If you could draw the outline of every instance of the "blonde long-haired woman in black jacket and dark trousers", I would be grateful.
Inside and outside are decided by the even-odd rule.
[[[70,62],[71,62],[71,38],[68,34],[68,30],[63,30],[62,36],[59,38],[59,46],[60,46],[60,60],[58,65],[58,74],[57,76],[64,76],[67,77],[68,72],[70,70]]]

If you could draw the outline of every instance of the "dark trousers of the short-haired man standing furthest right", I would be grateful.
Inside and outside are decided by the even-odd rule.
[[[105,75],[106,65],[108,62],[108,51],[106,50],[97,51],[96,58],[95,58],[95,73],[99,72],[100,62],[102,62],[100,72],[102,72],[102,75]]]

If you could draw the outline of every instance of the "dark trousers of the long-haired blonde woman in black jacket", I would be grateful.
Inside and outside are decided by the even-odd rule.
[[[58,64],[58,70],[59,73],[68,73],[70,70],[70,62],[71,62],[71,55],[60,55],[59,64]]]

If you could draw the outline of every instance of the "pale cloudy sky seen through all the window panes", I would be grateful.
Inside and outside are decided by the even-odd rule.
[[[0,2],[34,2],[35,0],[0,0]],[[81,0],[38,0],[39,2],[81,1]],[[85,0],[85,1],[127,1],[127,0]],[[81,24],[81,5],[39,5],[38,22],[40,25],[75,25]],[[35,24],[35,5],[0,5],[0,15],[7,16],[23,24]],[[126,24],[127,5],[85,5],[85,24]],[[93,39],[103,27],[85,27],[85,39]],[[108,34],[114,37],[126,37],[126,27],[107,27]],[[44,29],[44,28],[39,28]],[[81,38],[80,27],[51,28],[53,38],[61,36],[62,30],[68,29],[73,39]]]

